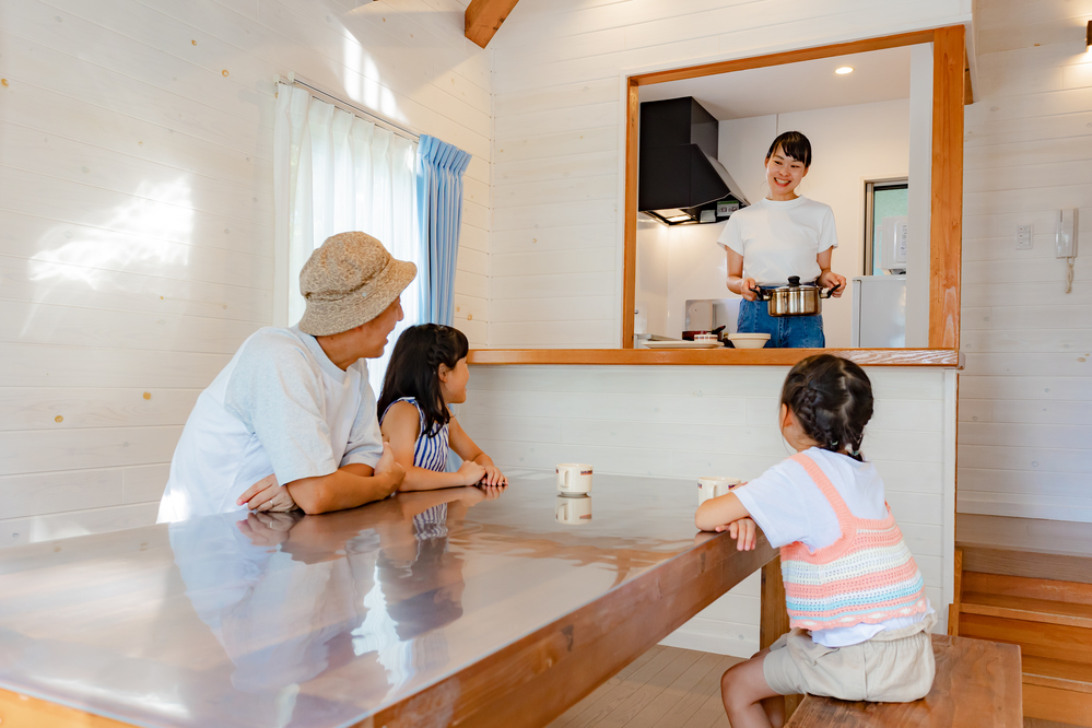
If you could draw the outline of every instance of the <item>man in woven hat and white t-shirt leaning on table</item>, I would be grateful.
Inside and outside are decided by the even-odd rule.
[[[254,333],[198,397],[157,520],[390,495],[406,473],[381,439],[364,360],[383,354],[415,274],[371,235],[327,238],[300,272],[300,324]]]

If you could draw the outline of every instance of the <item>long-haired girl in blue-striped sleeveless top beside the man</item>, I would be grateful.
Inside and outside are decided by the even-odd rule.
[[[438,324],[411,326],[395,344],[377,410],[383,439],[406,470],[401,491],[508,484],[448,409],[467,401],[469,351],[461,331]],[[446,471],[448,449],[463,460],[456,472]]]

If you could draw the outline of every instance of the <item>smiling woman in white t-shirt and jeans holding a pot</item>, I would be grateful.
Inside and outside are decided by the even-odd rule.
[[[846,279],[831,270],[838,245],[830,206],[796,193],[811,167],[811,142],[799,131],[777,137],[766,152],[770,195],[732,213],[717,240],[728,253],[728,290],[743,297],[739,306],[741,333],[768,333],[767,347],[821,349],[826,345],[823,317],[770,315],[755,301],[756,286],[787,285],[790,275],[845,292]]]

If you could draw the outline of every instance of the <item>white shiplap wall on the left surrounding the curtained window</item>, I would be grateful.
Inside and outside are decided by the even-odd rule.
[[[473,154],[457,326],[486,343],[491,72],[466,4],[0,3],[0,547],[154,520],[198,392],[270,324],[274,74]]]

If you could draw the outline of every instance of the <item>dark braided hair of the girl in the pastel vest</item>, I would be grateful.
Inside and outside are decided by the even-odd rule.
[[[809,356],[785,378],[782,404],[821,448],[864,460],[860,442],[872,419],[872,385],[859,366],[832,354]]]

